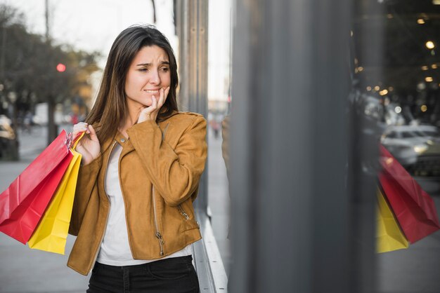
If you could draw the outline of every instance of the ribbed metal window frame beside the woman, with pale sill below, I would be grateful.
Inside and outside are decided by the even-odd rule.
[[[207,118],[208,1],[176,1],[176,13],[181,80],[179,108]],[[202,240],[193,245],[193,259],[201,292],[227,292],[228,278],[207,212],[207,172],[206,165],[194,202]]]

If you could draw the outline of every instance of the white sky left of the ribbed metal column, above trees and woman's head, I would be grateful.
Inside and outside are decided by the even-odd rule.
[[[46,33],[44,0],[0,0],[25,13],[25,23],[31,32]],[[49,32],[60,43],[103,55],[123,29],[134,24],[153,24],[150,0],[49,0]],[[157,28],[170,42],[174,40],[172,0],[156,0]]]

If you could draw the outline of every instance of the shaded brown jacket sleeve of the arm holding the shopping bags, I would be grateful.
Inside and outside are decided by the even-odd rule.
[[[72,217],[70,218],[69,234],[78,236],[82,219],[86,213],[90,196],[98,192],[98,172],[101,170],[101,154],[88,165],[79,167],[75,199],[73,200]]]

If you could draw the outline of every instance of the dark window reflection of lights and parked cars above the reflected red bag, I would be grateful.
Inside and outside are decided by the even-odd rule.
[[[382,133],[373,139],[440,193],[440,184],[433,186],[440,182],[440,6],[431,0],[361,2],[352,32],[358,107]],[[382,56],[363,52],[373,46],[365,43],[368,34],[383,34]]]

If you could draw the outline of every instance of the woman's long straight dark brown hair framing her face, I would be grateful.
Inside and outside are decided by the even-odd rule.
[[[124,29],[108,54],[107,64],[99,87],[96,102],[93,105],[86,122],[98,124],[96,135],[101,143],[114,137],[119,125],[127,118],[127,104],[125,96],[125,79],[131,62],[136,54],[145,46],[158,46],[168,54],[171,85],[167,100],[159,114],[157,121],[164,121],[178,111],[176,102],[176,88],[179,84],[177,76],[176,57],[168,39],[153,26],[132,26]]]

